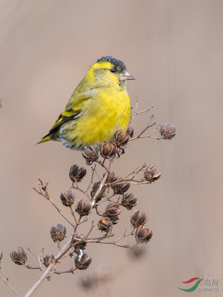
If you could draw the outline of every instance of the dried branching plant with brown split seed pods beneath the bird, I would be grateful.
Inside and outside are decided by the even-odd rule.
[[[140,113],[149,112],[153,105],[146,110],[137,111],[138,96],[136,98],[136,108],[131,121]],[[85,270],[92,263],[92,258],[85,253],[87,244],[97,243],[97,244],[112,244],[117,247],[123,247],[132,250],[137,255],[139,254],[138,244],[147,243],[152,237],[152,231],[149,230],[145,224],[148,219],[148,215],[139,209],[133,211],[131,216],[131,230],[127,231],[124,229],[123,235],[115,238],[115,230],[120,228],[119,216],[120,210],[131,211],[138,203],[138,198],[136,194],[132,192],[127,192],[131,184],[151,184],[160,178],[161,174],[158,173],[157,168],[154,165],[147,165],[146,163],[142,166],[137,167],[131,173],[126,176],[116,176],[112,171],[114,162],[118,162],[125,150],[131,145],[131,141],[139,138],[154,138],[160,139],[172,139],[176,134],[175,127],[166,123],[160,126],[161,137],[153,136],[154,132],[158,129],[156,127],[149,134],[145,132],[156,124],[154,121],[154,114],[150,116],[150,121],[144,129],[137,135],[134,136],[134,129],[129,126],[124,132],[123,130],[118,130],[114,134],[113,140],[108,143],[103,141],[100,148],[97,146],[89,146],[84,148],[82,151],[82,156],[86,161],[88,166],[93,165],[90,168],[92,171],[91,180],[89,181],[87,189],[82,189],[80,182],[86,176],[87,170],[78,165],[72,165],[70,167],[69,177],[72,181],[70,190],[67,192],[62,192],[60,194],[60,199],[64,207],[69,207],[71,216],[68,218],[60,209],[59,206],[54,203],[49,192],[48,192],[48,182],[43,183],[43,181],[38,179],[38,189],[34,187],[33,189],[46,198],[54,208],[61,214],[61,216],[67,221],[72,227],[72,232],[66,237],[66,227],[63,224],[57,224],[51,227],[50,236],[55,243],[58,245],[58,252],[56,255],[45,255],[43,256],[43,250],[40,255],[37,256],[30,249],[34,257],[38,261],[38,266],[31,267],[26,265],[27,255],[26,251],[22,247],[18,247],[10,253],[12,261],[20,266],[25,266],[28,269],[39,269],[41,271],[41,276],[35,282],[35,284],[27,291],[24,297],[29,297],[37,289],[37,287],[43,282],[44,279],[50,280],[52,274],[62,274],[62,273],[72,273],[76,270]],[[102,168],[102,176],[97,175],[98,167]],[[95,178],[99,180],[95,180]],[[74,191],[81,193],[82,197],[80,200],[76,201]],[[73,204],[76,205],[75,209]],[[100,209],[100,210],[99,210]],[[101,211],[103,209],[103,211]],[[92,215],[95,213],[98,216],[98,220],[93,221],[87,233],[81,234],[81,225],[88,221]],[[129,223],[129,222],[128,222]],[[122,225],[123,227],[123,225]],[[91,232],[94,228],[98,228],[98,237],[91,237]],[[135,231],[135,232],[134,232]],[[135,234],[135,243],[133,246],[122,244],[123,238]],[[113,238],[111,240],[111,237]],[[65,244],[61,246],[61,243],[65,241]],[[89,252],[90,254],[90,252]],[[65,257],[70,257],[71,266],[75,265],[75,268],[68,268],[66,271],[58,271],[58,266],[61,260]],[[72,260],[74,257],[74,261]],[[0,278],[10,287],[10,289],[17,295],[20,296],[9,284],[7,278],[4,275],[1,266],[2,252],[0,251]],[[45,266],[45,268],[43,268]],[[96,280],[92,280],[93,283],[97,283]],[[82,285],[85,283],[83,279]]]

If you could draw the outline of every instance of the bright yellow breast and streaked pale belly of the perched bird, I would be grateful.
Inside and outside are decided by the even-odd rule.
[[[100,145],[103,140],[112,139],[118,129],[127,128],[130,114],[130,99],[125,88],[93,89],[79,117],[60,128],[60,140],[70,149]]]

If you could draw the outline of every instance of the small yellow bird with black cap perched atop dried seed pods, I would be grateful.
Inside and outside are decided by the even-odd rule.
[[[112,56],[98,59],[71,95],[65,110],[40,142],[61,141],[69,149],[100,145],[128,126],[131,106],[126,80],[135,79]],[[38,144],[37,143],[37,144]]]

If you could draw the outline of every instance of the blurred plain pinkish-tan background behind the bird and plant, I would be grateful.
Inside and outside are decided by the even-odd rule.
[[[157,126],[172,122],[177,128],[172,141],[132,142],[114,167],[125,175],[147,162],[161,172],[156,183],[131,187],[153,238],[138,260],[127,249],[88,244],[87,271],[53,275],[33,296],[86,296],[80,278],[108,267],[115,279],[88,296],[209,296],[177,288],[191,287],[182,281],[192,277],[204,278],[203,287],[205,279],[219,279],[215,296],[222,296],[222,14],[221,0],[1,1],[0,249],[5,275],[21,295],[40,271],[16,266],[10,252],[21,246],[56,254],[51,226],[64,223],[71,232],[32,187],[39,176],[48,180],[52,199],[61,205],[59,194],[71,185],[70,165],[87,166],[80,153],[61,143],[32,145],[54,124],[88,67],[112,55],[136,77],[127,83],[131,105],[139,95],[139,110],[154,105]],[[134,120],[136,134],[150,115]],[[130,229],[132,212],[122,211],[116,236]],[[92,219],[97,218],[89,216],[79,231]],[[135,241],[132,236],[125,242]],[[30,252],[28,263],[37,266]],[[73,261],[66,260],[57,270],[71,267]],[[15,296],[2,281],[0,291]]]

